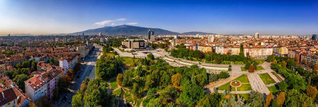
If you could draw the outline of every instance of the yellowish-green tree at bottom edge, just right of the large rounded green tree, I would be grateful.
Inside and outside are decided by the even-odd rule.
[[[221,95],[218,93],[215,94],[206,94],[200,101],[197,103],[198,107],[219,107],[221,101]]]

